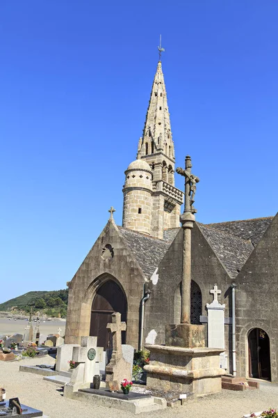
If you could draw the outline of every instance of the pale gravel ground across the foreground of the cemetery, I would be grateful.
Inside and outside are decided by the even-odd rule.
[[[121,410],[87,405],[64,399],[58,385],[42,380],[42,376],[19,372],[19,364],[54,364],[50,356],[24,359],[20,362],[0,362],[0,387],[6,389],[7,398],[42,410],[49,418],[131,418]],[[278,385],[263,382],[261,389],[246,392],[222,390],[219,394],[189,401],[179,408],[140,414],[141,418],[242,418],[244,414],[265,408],[278,408]]]

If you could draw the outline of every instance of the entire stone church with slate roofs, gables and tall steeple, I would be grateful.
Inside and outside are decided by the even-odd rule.
[[[109,348],[106,325],[113,311],[126,321],[123,343],[136,350],[165,343],[165,325],[180,322],[183,192],[174,186],[174,163],[159,61],[137,159],[124,172],[122,226],[115,224],[111,208],[104,230],[68,283],[66,343],[92,335],[98,346]],[[206,326],[206,303],[217,284],[225,305],[224,367],[236,376],[278,380],[277,235],[278,215],[193,227],[191,323]]]

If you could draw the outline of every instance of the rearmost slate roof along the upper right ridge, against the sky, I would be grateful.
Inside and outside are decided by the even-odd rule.
[[[243,240],[251,240],[256,246],[263,233],[272,222],[273,217],[245,219],[243,221],[221,222],[220,224],[208,224],[222,232],[231,233]]]

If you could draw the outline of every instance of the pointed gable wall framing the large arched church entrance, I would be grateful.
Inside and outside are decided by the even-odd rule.
[[[113,250],[110,258],[104,255],[107,245]],[[113,221],[106,224],[70,281],[65,343],[79,344],[81,336],[90,335],[92,300],[107,279],[115,280],[126,294],[126,343],[138,348],[139,307],[145,279]]]

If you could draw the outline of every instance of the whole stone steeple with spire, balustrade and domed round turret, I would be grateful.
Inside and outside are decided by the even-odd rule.
[[[174,142],[158,61],[136,162],[125,171],[123,226],[163,239],[179,226],[183,192],[174,187]]]

